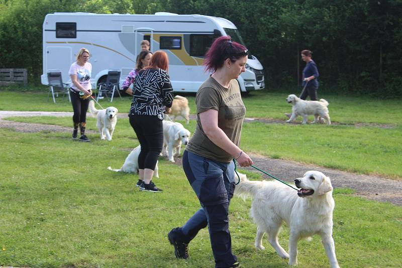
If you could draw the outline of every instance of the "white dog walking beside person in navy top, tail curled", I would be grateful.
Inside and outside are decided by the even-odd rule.
[[[292,114],[289,120],[286,122],[293,121],[298,115],[303,117],[303,123],[307,123],[307,116],[314,115],[313,123],[318,123],[321,119],[327,120],[327,124],[331,124],[331,118],[328,112],[328,101],[325,99],[317,100],[303,100],[298,98],[294,94],[290,94],[286,98],[287,103],[292,104]]]

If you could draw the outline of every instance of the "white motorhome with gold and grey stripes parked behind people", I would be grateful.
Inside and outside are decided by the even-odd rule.
[[[105,82],[109,69],[121,70],[121,84],[134,68],[141,51],[140,42],[148,40],[151,51],[163,50],[169,57],[169,76],[174,91],[196,92],[208,78],[204,55],[213,40],[230,35],[244,44],[236,26],[230,21],[203,15],[155,15],[54,13],[43,22],[43,74],[61,70],[69,81],[68,69],[76,53],[85,47],[90,52],[92,88]],[[246,72],[238,78],[241,91],[263,89],[261,63],[249,56]]]

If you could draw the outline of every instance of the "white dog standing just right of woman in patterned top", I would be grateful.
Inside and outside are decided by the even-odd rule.
[[[163,120],[163,148],[162,155],[174,163],[173,156],[180,155],[181,144],[187,145],[190,131],[179,122]]]

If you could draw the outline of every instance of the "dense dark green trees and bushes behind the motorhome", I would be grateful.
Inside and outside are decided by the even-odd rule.
[[[300,51],[310,49],[323,86],[402,96],[402,0],[0,0],[0,67],[28,68],[39,82],[48,13],[160,11],[232,21],[264,65],[269,86],[298,84]]]

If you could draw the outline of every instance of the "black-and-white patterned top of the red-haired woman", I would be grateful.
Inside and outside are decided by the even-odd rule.
[[[135,77],[134,89],[129,115],[157,115],[163,119],[165,107],[171,107],[173,101],[167,72],[159,68],[142,69]]]

